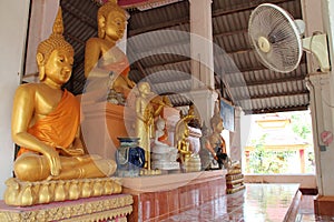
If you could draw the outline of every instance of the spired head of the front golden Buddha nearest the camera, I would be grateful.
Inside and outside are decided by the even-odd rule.
[[[40,81],[45,80],[46,74],[55,75],[53,78],[58,78],[59,83],[65,83],[70,78],[75,50],[65,40],[62,32],[62,16],[59,8],[51,36],[37,48],[36,60]]]

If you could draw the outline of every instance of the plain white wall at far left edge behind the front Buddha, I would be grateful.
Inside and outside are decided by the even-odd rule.
[[[12,176],[11,107],[22,68],[29,0],[0,1],[0,193]]]

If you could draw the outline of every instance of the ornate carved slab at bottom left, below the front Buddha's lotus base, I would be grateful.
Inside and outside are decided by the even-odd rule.
[[[0,221],[127,221],[132,212],[129,194],[105,195],[33,206],[9,206],[0,201]]]

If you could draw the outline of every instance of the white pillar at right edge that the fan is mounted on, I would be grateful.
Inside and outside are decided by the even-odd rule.
[[[310,4],[311,0],[304,0]],[[333,42],[334,42],[334,1],[322,0],[318,1],[321,7],[322,24],[317,27],[318,30],[323,30],[327,34],[330,60],[332,63],[332,71],[328,73],[311,74],[311,109],[313,120],[313,133],[315,145],[315,161],[317,173],[317,185],[320,195],[334,195],[334,143],[332,142],[327,147],[321,139],[323,131],[334,131],[334,71],[333,71]],[[304,7],[305,9],[305,7]],[[312,7],[311,17],[307,17],[307,22],[311,23],[314,20],[318,20],[318,16],[315,14],[315,7]],[[313,18],[313,20],[312,20]],[[307,23],[306,23],[307,24]],[[307,24],[310,26],[310,24]],[[318,24],[321,26],[321,24]]]

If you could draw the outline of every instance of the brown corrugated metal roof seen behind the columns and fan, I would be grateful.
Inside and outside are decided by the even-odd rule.
[[[278,73],[266,69],[249,44],[249,14],[264,2],[276,3],[295,19],[302,18],[299,0],[213,0],[215,85],[224,98],[240,105],[246,113],[307,109],[305,57],[295,71]],[[60,3],[65,34],[76,50],[73,77],[66,87],[81,93],[85,42],[97,36],[98,7],[90,0],[61,0]],[[157,93],[168,94],[174,105],[189,104],[189,99],[181,94],[190,89],[189,2],[184,0],[147,11],[131,9],[129,13],[130,79],[149,81]]]

